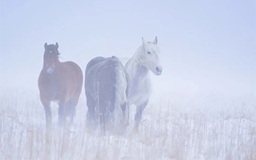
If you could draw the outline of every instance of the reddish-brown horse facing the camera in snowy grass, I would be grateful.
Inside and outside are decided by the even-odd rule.
[[[46,126],[51,125],[50,102],[58,102],[58,124],[66,117],[74,122],[75,107],[82,90],[82,70],[74,62],[59,62],[58,42],[45,43],[43,67],[38,78],[40,99],[46,113]]]

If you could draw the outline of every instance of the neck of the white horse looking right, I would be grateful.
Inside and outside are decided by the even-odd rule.
[[[130,79],[133,79],[135,76],[137,77],[137,74],[139,74],[139,77],[146,76],[148,74],[148,69],[146,66],[143,66],[141,62],[143,55],[142,52],[143,46],[139,46],[134,56],[126,63],[126,70]]]

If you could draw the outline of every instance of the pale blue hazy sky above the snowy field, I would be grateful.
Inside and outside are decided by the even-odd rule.
[[[38,90],[44,43],[85,70],[96,56],[130,58],[158,36],[159,90],[256,90],[255,1],[1,0],[1,87]],[[83,91],[84,92],[84,91]]]

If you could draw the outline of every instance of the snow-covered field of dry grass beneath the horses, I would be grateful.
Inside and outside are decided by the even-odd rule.
[[[140,131],[100,137],[85,130],[86,99],[81,95],[74,126],[46,130],[38,92],[2,90],[1,159],[256,159],[255,94],[236,98],[175,93],[152,98]]]

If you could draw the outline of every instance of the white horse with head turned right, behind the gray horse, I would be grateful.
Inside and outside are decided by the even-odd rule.
[[[125,66],[130,77],[128,102],[129,105],[134,104],[137,107],[134,131],[138,131],[139,122],[142,120],[142,112],[151,95],[149,70],[155,75],[162,74],[162,66],[158,58],[160,51],[157,44],[157,37],[153,42],[146,42],[142,38],[142,46],[138,47],[134,56],[130,58]]]

